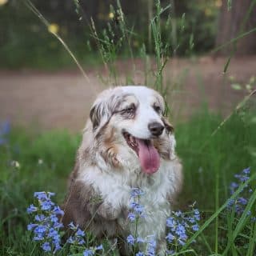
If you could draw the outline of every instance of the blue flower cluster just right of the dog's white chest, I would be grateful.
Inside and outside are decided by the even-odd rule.
[[[173,216],[166,220],[167,242],[175,246],[185,245],[188,234],[199,230],[199,221],[200,213],[197,209],[193,209],[190,213],[182,213],[180,210],[173,212]]]

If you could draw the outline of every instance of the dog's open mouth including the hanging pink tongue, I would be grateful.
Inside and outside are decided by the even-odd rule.
[[[123,137],[128,146],[138,155],[142,170],[146,174],[154,174],[160,166],[160,156],[158,150],[153,145],[152,140],[136,138],[124,131]]]

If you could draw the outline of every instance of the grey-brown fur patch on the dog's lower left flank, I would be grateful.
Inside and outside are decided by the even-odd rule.
[[[112,237],[118,230],[115,218],[119,213],[115,213],[113,207],[106,206],[93,187],[85,183],[72,183],[62,208],[62,222],[66,227],[70,222],[75,222],[75,225],[90,230],[98,238],[104,235]]]

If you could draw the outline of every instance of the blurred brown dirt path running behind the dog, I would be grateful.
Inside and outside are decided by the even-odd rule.
[[[172,59],[166,66],[166,81],[170,81],[170,106],[174,122],[187,118],[203,101],[212,110],[229,112],[245,94],[230,89],[230,75],[245,84],[256,75],[256,56],[232,59],[229,71],[222,74],[226,58],[210,57],[197,60]],[[136,62],[134,83],[143,84],[142,63]],[[130,62],[118,62],[122,74],[131,70]],[[36,71],[0,71],[0,121],[10,120],[22,126],[38,125],[42,129],[66,128],[81,130],[91,103],[99,91],[106,72],[90,70],[90,82],[78,71],[45,73]],[[110,84],[111,82],[109,82]]]

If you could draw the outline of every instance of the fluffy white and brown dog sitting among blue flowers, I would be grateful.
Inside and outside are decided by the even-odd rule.
[[[166,218],[182,187],[182,164],[164,110],[162,96],[146,86],[118,86],[99,94],[70,174],[64,225],[74,222],[98,238],[125,241],[134,229],[127,218],[130,191],[139,188],[146,214],[137,235],[153,235],[156,250],[165,253]],[[122,254],[129,254],[126,244]]]

